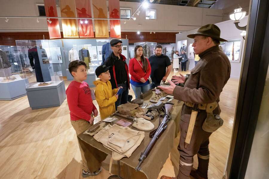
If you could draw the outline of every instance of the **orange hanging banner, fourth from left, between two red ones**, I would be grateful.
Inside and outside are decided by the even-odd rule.
[[[94,18],[107,18],[106,1],[92,0]],[[108,38],[108,20],[94,20],[95,37]]]

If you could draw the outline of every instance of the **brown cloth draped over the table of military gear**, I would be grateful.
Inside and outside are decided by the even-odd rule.
[[[152,96],[153,95],[155,95],[154,92],[152,93]],[[152,96],[149,95],[146,98],[144,98],[144,103],[150,103],[149,100]],[[178,103],[178,100],[175,100],[175,99],[172,102],[175,104],[170,113],[172,115],[172,120],[169,121],[167,125],[167,129],[163,132],[161,137],[156,142],[154,148],[149,153],[148,157],[142,163],[141,171],[135,172],[135,167],[139,163],[138,159],[140,158],[140,154],[146,149],[146,146],[149,144],[149,141],[151,140],[151,138],[149,138],[150,131],[144,131],[145,138],[140,144],[140,146],[138,146],[137,149],[132,153],[131,157],[129,158],[125,157],[120,160],[120,163],[124,163],[125,165],[128,166],[128,172],[124,172],[124,173],[128,173],[129,178],[133,178],[133,179],[158,178],[158,175],[163,167],[163,164],[166,162],[166,159],[169,157],[170,150],[173,147],[174,138],[177,136],[177,133],[179,132],[179,120],[180,120],[180,113],[181,113],[181,107],[183,105],[183,102]],[[114,116],[114,118],[117,118],[118,120],[122,119],[119,116]],[[125,119],[125,120],[130,121],[128,119]],[[155,128],[158,127],[158,124],[159,124],[158,117],[151,120],[151,122],[154,124]],[[130,128],[139,131],[139,129],[136,129],[132,126],[130,126]],[[78,139],[80,143],[83,143],[83,145],[91,145],[94,148],[97,148],[100,151],[110,156],[112,154],[111,150],[105,148],[102,143],[97,142],[90,135],[85,135],[81,133],[80,135],[78,135]],[[87,160],[91,160],[91,159],[88,158]],[[122,169],[121,169],[121,172],[122,172]],[[128,175],[126,178],[128,178]]]

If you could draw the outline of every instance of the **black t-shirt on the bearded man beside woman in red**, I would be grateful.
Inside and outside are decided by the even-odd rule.
[[[159,57],[151,55],[149,57],[149,63],[151,66],[150,77],[152,81],[154,83],[160,83],[166,73],[166,67],[171,65],[169,57],[163,54]]]

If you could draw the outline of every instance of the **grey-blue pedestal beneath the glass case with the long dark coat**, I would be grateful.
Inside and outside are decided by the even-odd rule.
[[[60,106],[65,100],[64,81],[50,83],[47,86],[38,86],[37,84],[26,89],[28,101],[32,109]]]

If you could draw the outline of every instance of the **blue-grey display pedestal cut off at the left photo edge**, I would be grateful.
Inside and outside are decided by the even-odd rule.
[[[0,100],[13,100],[26,95],[25,79],[0,82]]]

